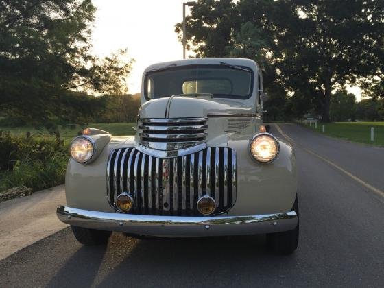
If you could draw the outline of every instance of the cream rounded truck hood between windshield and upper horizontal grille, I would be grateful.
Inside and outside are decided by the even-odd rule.
[[[147,101],[139,112],[141,119],[208,117],[215,114],[254,114],[254,111],[241,99],[171,96]]]

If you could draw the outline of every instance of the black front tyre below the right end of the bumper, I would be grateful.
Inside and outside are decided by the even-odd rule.
[[[267,245],[278,254],[292,254],[298,248],[299,241],[299,206],[296,195],[292,211],[298,215],[298,226],[295,229],[267,234]]]

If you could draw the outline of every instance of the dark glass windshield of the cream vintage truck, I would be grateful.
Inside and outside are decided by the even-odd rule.
[[[145,97],[211,94],[213,97],[247,99],[252,93],[253,72],[248,67],[190,65],[147,73]]]

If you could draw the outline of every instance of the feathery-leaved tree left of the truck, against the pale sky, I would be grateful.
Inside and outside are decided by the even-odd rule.
[[[34,125],[73,121],[73,91],[125,92],[125,51],[90,53],[94,13],[91,0],[0,1],[0,111]]]

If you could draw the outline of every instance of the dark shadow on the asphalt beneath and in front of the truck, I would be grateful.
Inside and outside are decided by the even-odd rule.
[[[281,261],[276,261],[276,257]],[[253,278],[255,273],[270,279],[276,269],[294,262],[294,255],[277,256],[270,252],[263,235],[132,239],[114,233],[106,248],[77,250],[48,286],[217,285],[231,283],[236,276]]]

